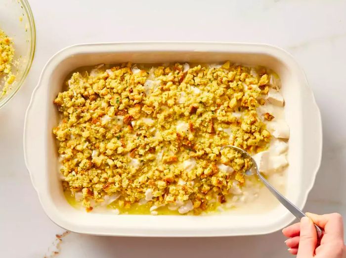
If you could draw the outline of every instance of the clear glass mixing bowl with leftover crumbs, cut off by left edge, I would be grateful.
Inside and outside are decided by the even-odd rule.
[[[0,0],[0,29],[13,40],[12,74],[16,77],[6,94],[0,97],[1,108],[22,87],[34,59],[35,23],[27,0]],[[4,82],[0,80],[0,96],[3,86]]]

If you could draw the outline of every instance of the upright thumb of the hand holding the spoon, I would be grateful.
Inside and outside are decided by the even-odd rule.
[[[297,258],[312,258],[317,243],[315,226],[311,219],[303,217],[301,219],[301,234]]]

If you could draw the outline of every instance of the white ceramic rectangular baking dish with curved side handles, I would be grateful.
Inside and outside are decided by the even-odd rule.
[[[320,165],[322,126],[304,73],[289,53],[269,45],[245,43],[107,43],[77,45],[56,53],[43,68],[26,112],[25,162],[49,218],[71,231],[110,236],[255,235],[276,231],[292,222],[294,217],[280,205],[261,214],[154,216],[87,213],[65,200],[51,130],[58,122],[53,100],[71,71],[99,63],[224,60],[263,65],[281,77],[285,116],[291,129],[285,195],[303,208]]]

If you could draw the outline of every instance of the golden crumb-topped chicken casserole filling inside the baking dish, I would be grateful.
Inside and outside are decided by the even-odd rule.
[[[88,211],[201,214],[252,202],[255,155],[283,180],[289,128],[278,76],[231,64],[124,63],[74,72],[54,100],[66,196]],[[278,176],[280,179],[278,179]]]

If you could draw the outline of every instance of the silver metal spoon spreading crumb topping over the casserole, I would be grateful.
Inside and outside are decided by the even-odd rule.
[[[253,167],[255,167],[257,176],[259,177],[259,179],[263,182],[263,184],[269,189],[269,191],[276,197],[277,200],[279,200],[279,202],[285,206],[289,211],[291,211],[291,213],[293,215],[296,216],[296,218],[298,218],[299,220],[301,220],[302,217],[306,217],[306,215],[303,213],[302,210],[300,210],[297,206],[295,206],[294,204],[292,204],[290,201],[288,201],[282,194],[280,194],[271,184],[269,184],[269,182],[261,175],[261,173],[259,173],[259,169],[257,166],[257,163],[255,161],[255,159],[248,154],[246,151],[244,151],[241,148],[235,147],[233,145],[224,145],[221,147],[221,150],[225,149],[225,148],[231,148],[234,149],[240,153],[242,153],[243,155],[245,155],[247,158],[250,158],[252,163],[253,163]],[[250,172],[250,173],[249,173]],[[248,171],[246,171],[247,175],[251,175],[253,174],[252,171],[249,169]],[[317,237],[320,238],[322,236],[322,229],[317,226],[315,224],[315,228],[316,228],[316,232],[317,232]]]

